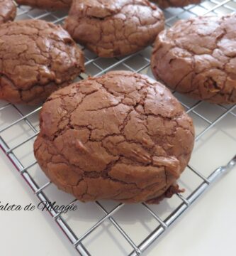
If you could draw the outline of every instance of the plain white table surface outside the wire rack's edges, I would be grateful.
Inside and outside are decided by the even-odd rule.
[[[0,166],[0,201],[36,205],[38,199],[2,151]],[[144,255],[236,255],[235,181],[236,169],[233,169]],[[77,255],[48,213],[0,211],[0,221],[1,255]]]

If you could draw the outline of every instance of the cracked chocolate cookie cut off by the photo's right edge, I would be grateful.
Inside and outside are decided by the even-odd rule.
[[[213,103],[236,102],[236,14],[178,21],[157,37],[156,78],[177,92]]]

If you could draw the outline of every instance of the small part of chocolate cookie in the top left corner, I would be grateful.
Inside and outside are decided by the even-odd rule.
[[[0,24],[13,21],[16,17],[16,5],[12,0],[0,0]]]

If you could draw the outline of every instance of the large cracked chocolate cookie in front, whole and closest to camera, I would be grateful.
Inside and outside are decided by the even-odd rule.
[[[193,140],[191,118],[164,85],[116,71],[54,92],[34,152],[48,178],[80,201],[157,203],[179,191]]]

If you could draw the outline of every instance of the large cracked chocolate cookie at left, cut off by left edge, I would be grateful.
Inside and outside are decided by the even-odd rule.
[[[34,105],[84,71],[82,50],[52,23],[6,23],[0,42],[0,99]]]

